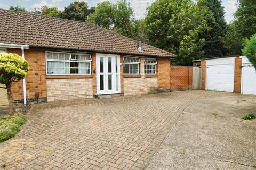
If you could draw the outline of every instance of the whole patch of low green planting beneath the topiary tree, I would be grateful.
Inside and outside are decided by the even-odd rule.
[[[13,138],[20,131],[20,126],[26,123],[26,116],[15,113],[13,116],[0,116],[0,142]]]

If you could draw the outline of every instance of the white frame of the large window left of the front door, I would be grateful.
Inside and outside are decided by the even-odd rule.
[[[48,59],[47,58],[47,53],[62,53],[62,54],[68,54],[68,58],[69,60],[57,60],[57,59]],[[45,73],[46,75],[91,75],[92,73],[92,68],[91,68],[91,64],[92,64],[92,57],[91,57],[91,54],[87,54],[86,55],[90,55],[90,59],[91,61],[89,60],[75,60],[75,59],[72,59],[71,60],[71,54],[79,54],[79,55],[85,55],[84,53],[68,53],[68,52],[54,52],[54,51],[45,51]],[[54,62],[79,62],[79,63],[89,63],[89,68],[90,68],[90,71],[89,71],[89,74],[50,74],[48,73],[48,66],[47,66],[47,61],[54,61]],[[69,69],[70,69],[70,64],[69,64]]]

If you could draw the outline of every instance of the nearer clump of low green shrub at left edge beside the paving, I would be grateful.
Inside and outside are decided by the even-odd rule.
[[[0,126],[0,142],[6,141],[12,137],[14,137],[15,134],[17,134],[20,131],[20,126],[11,123],[9,121],[4,122]]]

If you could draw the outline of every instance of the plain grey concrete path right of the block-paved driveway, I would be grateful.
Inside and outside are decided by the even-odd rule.
[[[239,101],[238,101],[239,100]],[[147,170],[256,169],[256,96],[230,94],[187,107]]]

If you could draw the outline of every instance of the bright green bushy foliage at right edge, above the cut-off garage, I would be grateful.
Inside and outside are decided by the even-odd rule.
[[[246,41],[246,45],[242,49],[242,52],[256,69],[256,34],[252,35],[250,40]]]

